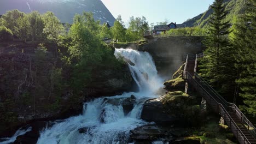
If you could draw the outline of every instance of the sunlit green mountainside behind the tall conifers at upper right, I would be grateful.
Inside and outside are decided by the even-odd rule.
[[[228,10],[226,20],[229,20],[232,23],[235,16],[245,13],[245,1],[246,0],[224,0],[225,9]],[[192,19],[188,19],[187,21],[183,22],[182,25],[186,27],[206,27],[212,13],[213,10],[211,7],[209,7],[205,13],[197,15]]]

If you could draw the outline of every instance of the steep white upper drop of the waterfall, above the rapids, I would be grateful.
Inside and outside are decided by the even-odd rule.
[[[134,65],[129,64],[133,79],[136,81],[139,92],[156,93],[164,85],[159,77],[152,56],[148,52],[132,49],[115,49],[115,57],[129,59]]]

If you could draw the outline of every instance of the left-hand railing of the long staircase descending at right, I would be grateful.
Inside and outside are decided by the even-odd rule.
[[[188,82],[190,82],[193,87],[196,88],[197,92],[199,92],[202,97],[207,101],[207,103],[210,104],[212,109],[224,118],[224,121],[228,124],[232,133],[235,134],[237,140],[243,144],[250,143],[247,137],[242,133],[241,129],[237,126],[229,113],[226,111],[225,107],[218,102],[218,100],[216,99],[218,97],[214,97],[212,93],[207,90],[207,87],[203,86],[204,83],[202,83],[202,81],[199,81],[200,79],[194,79],[194,77],[190,73],[188,73],[188,71],[186,74]]]

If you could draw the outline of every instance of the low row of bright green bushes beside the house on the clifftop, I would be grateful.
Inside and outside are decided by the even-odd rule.
[[[170,29],[166,32],[166,36],[205,36],[204,28],[200,27],[185,27]]]

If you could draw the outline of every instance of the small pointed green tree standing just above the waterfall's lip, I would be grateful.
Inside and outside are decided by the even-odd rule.
[[[123,23],[124,22],[119,15],[118,19],[116,19],[114,22],[114,26],[110,28],[112,37],[116,43],[125,41],[125,28]]]

